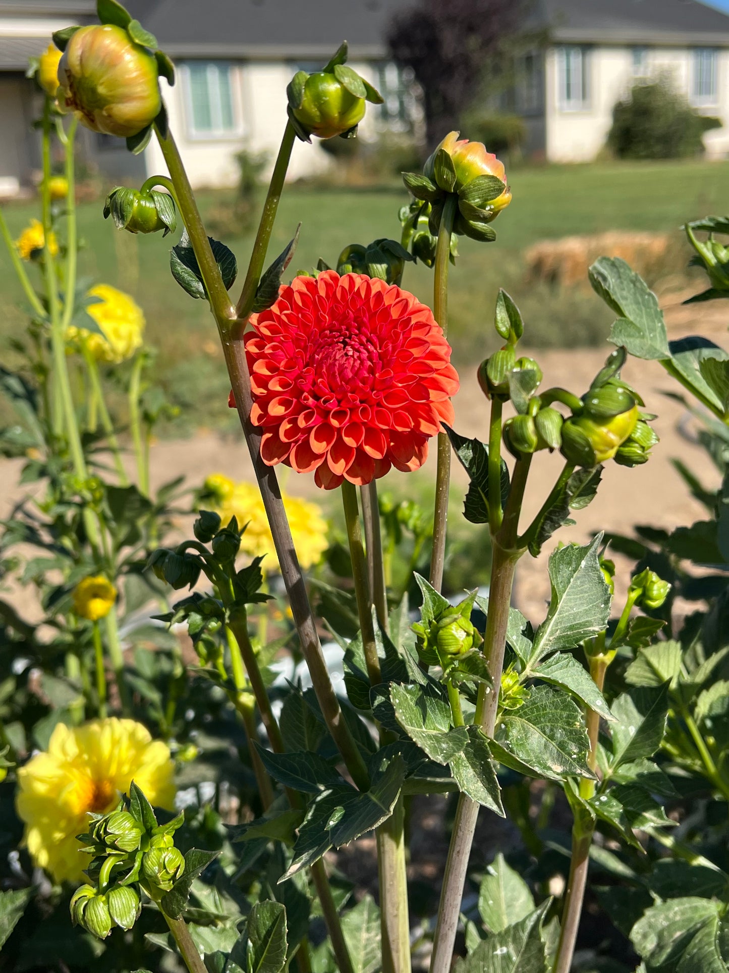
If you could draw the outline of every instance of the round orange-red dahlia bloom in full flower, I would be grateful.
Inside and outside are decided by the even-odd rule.
[[[391,466],[418,469],[440,423],[453,422],[450,345],[430,308],[394,284],[296,277],[251,324],[251,421],[269,466],[316,471],[325,489],[361,486]]]

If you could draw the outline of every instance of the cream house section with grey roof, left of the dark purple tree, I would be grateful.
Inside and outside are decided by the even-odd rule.
[[[393,16],[412,0],[127,0],[133,17],[156,35],[177,66],[177,81],[162,81],[170,123],[195,188],[231,186],[235,156],[265,152],[272,164],[286,125],[286,87],[296,71],[324,66],[342,40],[349,63],[380,90],[384,104],[367,106],[360,136],[410,132],[422,113],[411,73],[388,59]],[[27,127],[40,98],[23,77],[27,58],[48,45],[53,30],[90,22],[88,0],[0,0],[0,195],[12,195],[37,166],[37,138]],[[121,139],[88,133],[91,159],[112,179],[143,181],[166,172],[156,141],[134,157]],[[289,174],[299,178],[332,164],[321,144],[297,141]]]

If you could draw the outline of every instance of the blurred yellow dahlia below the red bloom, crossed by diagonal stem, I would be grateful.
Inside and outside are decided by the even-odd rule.
[[[265,555],[261,565],[263,570],[275,570],[278,558],[259,487],[245,481],[236,484],[221,473],[208,477],[205,487],[216,496],[214,509],[221,515],[224,526],[231,517],[237,519],[239,527],[248,524],[241,538],[240,550],[252,558]],[[301,567],[318,564],[329,547],[327,522],[322,516],[322,508],[301,497],[284,493],[282,498]]]

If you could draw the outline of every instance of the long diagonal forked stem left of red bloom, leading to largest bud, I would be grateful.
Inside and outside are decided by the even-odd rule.
[[[288,138],[287,128],[284,141]],[[261,432],[250,421],[253,399],[245,347],[242,341],[244,322],[243,326],[233,327],[233,322],[236,320],[235,308],[230,305],[230,299],[227,295],[226,287],[218,270],[215,258],[213,257],[207,234],[205,234],[205,229],[197,210],[197,204],[192,195],[190,180],[188,179],[177,146],[170,134],[162,136],[157,131],[157,139],[165,162],[167,162],[170,175],[172,176],[179,202],[180,214],[190,235],[195,257],[197,258],[197,263],[205,282],[210,307],[218,325],[224,354],[226,356],[228,377],[230,378],[230,384],[235,395],[236,408],[253,461],[256,479],[260,487],[260,495],[273,536],[281,576],[284,579],[289,595],[289,603],[292,614],[294,615],[294,623],[301,645],[301,652],[306,660],[314,692],[316,693],[331,737],[352,779],[361,790],[366,790],[369,786],[369,775],[366,764],[352,736],[352,732],[344,719],[341,706],[331,685],[329,669],[327,668],[321,642],[319,641],[319,634],[306,592],[304,577],[298,559],[296,558],[291,528],[286,517],[286,511],[284,510],[276,474],[273,468],[266,466],[260,458]],[[282,150],[283,148],[284,144],[282,143]],[[281,153],[279,153],[279,157],[281,158]],[[278,169],[279,167],[277,165]],[[280,188],[283,186],[283,176],[281,176],[280,171],[274,174],[280,182],[280,195]],[[269,198],[271,198],[271,201],[273,200],[273,196],[276,195],[273,193],[272,196],[272,191],[275,188],[272,180],[271,190],[269,190]],[[267,234],[259,233],[257,241],[260,242],[257,242],[257,245],[254,247],[254,254],[252,256],[252,261],[255,259],[256,263],[260,264],[261,267],[265,260],[265,250],[272,226],[270,213],[268,210],[266,212],[269,214],[265,216],[266,225],[268,226]],[[261,225],[263,222],[261,219]]]

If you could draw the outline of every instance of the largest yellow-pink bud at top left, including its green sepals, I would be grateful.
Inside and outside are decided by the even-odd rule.
[[[74,112],[87,128],[133,139],[129,147],[140,151],[152,125],[162,119],[159,77],[173,84],[174,67],[156,38],[120,3],[99,3],[98,13],[99,24],[53,34],[62,52],[53,94],[59,108]],[[39,82],[51,93],[46,73],[39,74]]]

